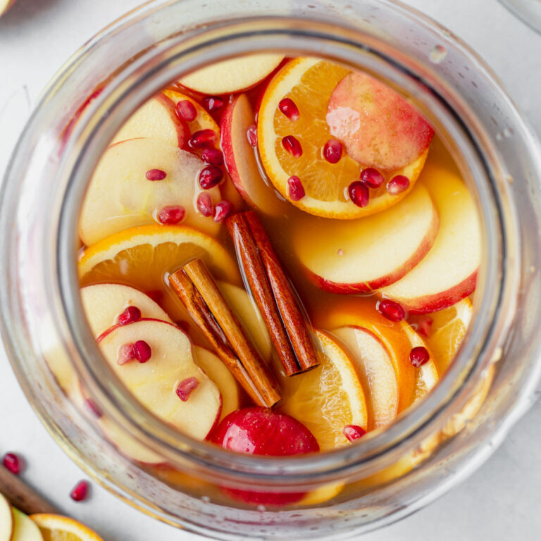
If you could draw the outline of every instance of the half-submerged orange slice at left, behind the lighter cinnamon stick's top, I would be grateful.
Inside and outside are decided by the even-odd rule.
[[[120,231],[85,249],[80,283],[130,285],[150,293],[173,321],[191,321],[167,275],[195,258],[203,259],[216,279],[240,283],[237,264],[218,241],[186,226],[158,224]]]

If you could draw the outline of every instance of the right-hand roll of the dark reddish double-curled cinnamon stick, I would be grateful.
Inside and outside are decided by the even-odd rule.
[[[313,345],[306,320],[299,309],[299,304],[290,285],[290,280],[280,265],[273,245],[270,244],[270,239],[256,213],[254,211],[248,211],[244,213],[244,216],[246,216],[251,233],[254,235],[254,240],[259,249],[259,256],[266,270],[270,287],[273,290],[278,311],[280,312],[280,316],[282,316],[282,321],[290,338],[293,351],[297,356],[301,371],[304,372],[315,368],[319,364],[316,347]]]

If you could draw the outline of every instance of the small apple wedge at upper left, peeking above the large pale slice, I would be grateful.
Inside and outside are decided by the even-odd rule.
[[[184,148],[189,139],[189,130],[187,124],[176,115],[173,101],[160,92],[128,118],[111,144],[139,137],[155,137]]]

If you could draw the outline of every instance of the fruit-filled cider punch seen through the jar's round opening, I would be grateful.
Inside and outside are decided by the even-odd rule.
[[[408,96],[270,53],[135,111],[78,233],[89,327],[135,399],[272,456],[361,444],[423,399],[466,335],[481,259],[473,197]],[[163,466],[96,410],[120,452]]]

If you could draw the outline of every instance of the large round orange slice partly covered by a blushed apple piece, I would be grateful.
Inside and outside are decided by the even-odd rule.
[[[371,199],[363,208],[349,200],[347,187],[359,180],[363,166],[344,153],[340,161],[329,163],[323,158],[322,150],[325,142],[333,139],[325,120],[328,99],[350,71],[318,58],[295,58],[270,82],[259,110],[258,147],[270,181],[299,209],[325,218],[361,218],[394,205],[409,193],[428,154],[425,151],[408,166],[385,173],[387,180],[394,175],[409,178],[409,188],[401,194],[388,194],[384,183],[371,190]],[[297,120],[290,120],[278,108],[286,97],[299,109]],[[301,144],[302,155],[298,158],[282,147],[282,138],[287,135],[293,135]],[[287,179],[292,175],[299,177],[306,193],[299,201],[292,201],[288,194]]]

